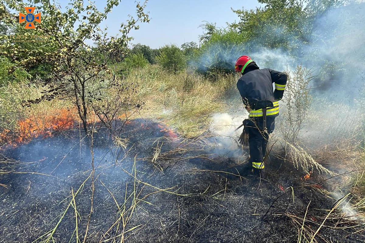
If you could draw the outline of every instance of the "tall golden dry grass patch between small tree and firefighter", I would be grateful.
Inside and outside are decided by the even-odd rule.
[[[196,137],[207,130],[213,113],[227,109],[224,94],[236,81],[221,77],[213,83],[188,71],[170,74],[150,66],[135,70],[126,82],[139,83],[137,97],[146,103],[143,116],[161,119],[182,135]]]

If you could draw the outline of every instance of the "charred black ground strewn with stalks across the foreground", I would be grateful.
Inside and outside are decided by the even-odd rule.
[[[0,183],[8,186],[8,189],[0,187],[0,242],[32,242],[57,224],[71,200],[71,191],[75,192],[91,173],[91,157],[87,149],[80,149],[78,134],[77,130],[52,138],[37,138],[3,152],[8,159],[0,163],[0,170],[11,173],[0,177]],[[260,181],[243,166],[235,166],[232,159],[199,156],[211,154],[204,150],[202,142],[174,140],[151,121],[136,120],[123,128],[120,136],[128,138],[129,143],[121,152],[112,148],[103,134],[107,133],[99,130],[95,145],[94,164],[98,168],[87,238],[90,243],[121,233],[114,227],[103,238],[119,217],[107,188],[122,205],[126,191],[130,195],[134,188],[135,180],[128,173],[134,173],[135,157],[139,180],[161,189],[174,187],[168,191],[186,196],[158,192],[141,201],[126,230],[141,226],[126,233],[125,242],[297,242],[298,227],[300,230],[308,203],[306,230],[312,234],[335,203],[323,194],[322,186],[308,186],[324,177],[312,175],[310,180],[301,180],[303,173],[274,157],[266,165],[268,177]],[[161,148],[162,155],[151,162],[155,148]],[[128,151],[127,158],[123,158],[124,151]],[[241,176],[237,176],[238,172]],[[158,191],[138,181],[136,189],[140,192],[139,199]],[[81,217],[78,228],[81,240],[90,199],[91,181],[88,180],[75,199]],[[127,208],[131,203],[132,199],[126,201]],[[358,222],[328,219],[316,240],[364,242],[361,232],[351,235],[362,228]],[[75,213],[70,207],[54,234],[55,242],[69,242],[74,229]],[[120,236],[116,240],[120,242]],[[71,242],[76,242],[74,236]],[[303,238],[302,242],[305,242]]]

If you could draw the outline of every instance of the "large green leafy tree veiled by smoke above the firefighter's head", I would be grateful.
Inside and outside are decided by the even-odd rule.
[[[349,0],[351,1],[351,0]],[[206,22],[201,27],[202,46],[194,58],[193,67],[212,77],[228,74],[235,59],[243,52],[260,48],[279,49],[296,58],[302,58],[303,46],[311,42],[312,28],[318,15],[343,5],[346,0],[259,0],[264,7],[233,10],[239,21],[218,29]]]

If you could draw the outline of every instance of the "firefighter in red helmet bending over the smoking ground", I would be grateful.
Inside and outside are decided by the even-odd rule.
[[[269,68],[260,69],[248,56],[237,59],[235,71],[242,75],[238,79],[237,89],[249,112],[249,118],[243,121],[245,127],[239,143],[243,145],[248,142],[250,170],[255,175],[264,177],[264,158],[269,134],[275,128],[275,117],[279,114],[279,101],[283,98],[288,76]]]

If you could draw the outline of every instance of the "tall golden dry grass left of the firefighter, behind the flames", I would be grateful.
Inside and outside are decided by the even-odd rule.
[[[118,74],[113,76],[115,73],[111,72],[110,79],[121,78]],[[213,113],[227,109],[224,102],[227,96],[224,94],[235,87],[235,78],[221,77],[213,83],[188,71],[172,74],[158,66],[147,66],[143,70],[132,71],[122,83],[125,87],[138,86],[133,91],[124,90],[125,93],[119,95],[122,99],[125,95],[128,102],[144,103],[141,111],[126,114],[125,117],[133,119],[142,116],[161,120],[186,137],[196,137],[207,130]],[[43,101],[30,107],[22,106],[24,100],[40,98],[42,91],[39,87],[21,83],[3,87],[0,90],[0,128],[16,131],[18,121],[30,116],[44,117],[65,107],[75,110],[72,101],[63,99]],[[111,94],[114,93],[111,90]],[[111,96],[104,95],[103,98],[109,101]],[[96,116],[91,107],[89,115],[89,121],[95,121]]]

